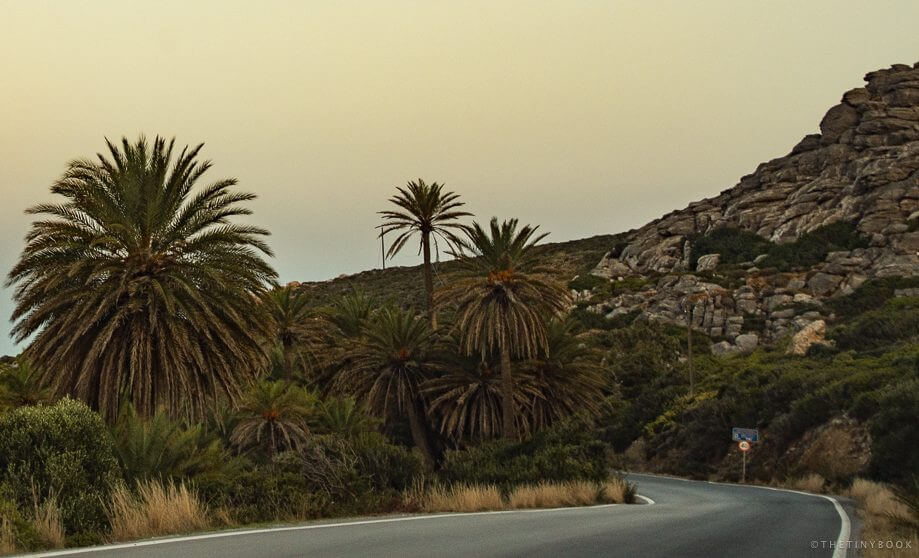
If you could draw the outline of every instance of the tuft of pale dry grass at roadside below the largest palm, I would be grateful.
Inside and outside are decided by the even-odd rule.
[[[122,486],[109,505],[116,541],[188,533],[208,527],[207,508],[184,484],[139,482],[135,495]]]

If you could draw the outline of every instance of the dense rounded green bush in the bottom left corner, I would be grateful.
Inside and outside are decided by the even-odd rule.
[[[112,439],[85,404],[63,399],[0,416],[0,495],[20,509],[56,498],[68,533],[107,527],[104,502],[121,480]]]

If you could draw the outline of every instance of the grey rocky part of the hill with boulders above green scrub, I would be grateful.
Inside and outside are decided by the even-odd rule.
[[[697,329],[726,338],[715,351],[734,352],[763,336],[802,330],[802,338],[819,341],[823,320],[832,317],[825,299],[871,278],[919,275],[919,63],[871,72],[865,81],[827,111],[819,134],[805,136],[788,155],[718,196],[630,232],[592,273],[614,284],[649,281],[636,292],[599,302],[594,296],[591,308],[683,324],[688,317]],[[811,265],[758,267],[768,263],[770,244],[794,252],[808,234],[841,223],[861,239],[852,249],[830,250]],[[764,253],[734,265],[725,265],[722,254],[692,253],[694,240],[718,230],[758,235]],[[832,238],[824,242],[832,245]],[[797,350],[808,345],[799,339]]]

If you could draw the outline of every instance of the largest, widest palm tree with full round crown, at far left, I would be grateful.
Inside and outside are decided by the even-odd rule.
[[[241,225],[253,194],[235,179],[197,186],[203,144],[106,140],[51,187],[9,274],[13,334],[56,395],[108,418],[122,400],[142,415],[163,406],[200,416],[216,394],[235,399],[262,367],[266,320],[257,300],[276,274],[264,229]]]

